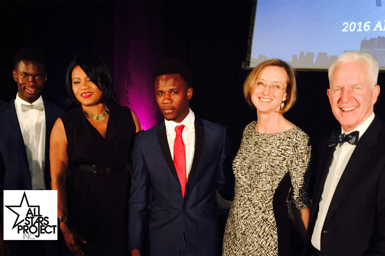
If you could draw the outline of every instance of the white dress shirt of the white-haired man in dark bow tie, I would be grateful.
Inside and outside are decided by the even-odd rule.
[[[341,133],[350,134],[354,131],[359,132],[358,140],[361,139],[362,135],[368,129],[370,124],[374,119],[374,112],[359,126],[353,129],[350,132],[345,132],[341,128]],[[341,175],[345,170],[346,165],[349,162],[350,157],[353,154],[356,145],[352,145],[348,142],[340,143],[336,146],[333,153],[333,160],[331,162],[328,175],[326,176],[325,185],[323,186],[323,192],[320,199],[319,210],[317,220],[315,222],[313,235],[311,236],[311,243],[313,246],[321,251],[321,232],[323,228],[323,223],[326,218],[326,214],[328,213],[328,209],[330,206],[331,199],[333,198],[334,192],[340,181]]]

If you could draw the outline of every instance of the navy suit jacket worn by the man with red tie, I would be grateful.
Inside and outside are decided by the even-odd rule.
[[[195,151],[183,198],[164,122],[139,132],[132,150],[129,249],[142,249],[148,224],[151,255],[178,255],[183,230],[194,255],[220,253],[216,189],[225,199],[234,197],[228,153],[226,128],[195,117]]]

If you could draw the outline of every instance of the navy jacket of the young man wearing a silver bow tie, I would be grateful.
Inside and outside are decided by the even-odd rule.
[[[49,101],[44,101],[45,111],[45,168],[44,180],[47,189],[51,188],[49,139],[56,119],[64,111]],[[31,175],[27,153],[17,119],[15,97],[0,107],[0,185],[1,213],[3,213],[3,190],[32,190]],[[3,214],[1,214],[1,217]],[[3,221],[3,218],[1,218]]]

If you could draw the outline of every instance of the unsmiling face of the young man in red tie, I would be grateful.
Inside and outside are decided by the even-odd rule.
[[[155,95],[166,120],[180,123],[189,114],[192,88],[186,88],[179,74],[158,76],[155,80]]]

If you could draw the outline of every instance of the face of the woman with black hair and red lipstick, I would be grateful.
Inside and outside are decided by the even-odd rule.
[[[83,106],[94,106],[102,97],[102,91],[88,78],[80,66],[72,70],[72,91]]]

